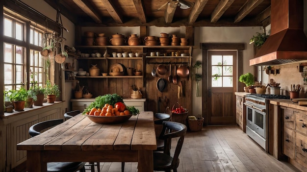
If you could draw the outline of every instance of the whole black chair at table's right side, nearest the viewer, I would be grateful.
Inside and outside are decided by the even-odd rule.
[[[182,123],[165,121],[163,122],[163,129],[161,138],[164,139],[164,151],[153,152],[153,170],[165,172],[177,172],[179,166],[179,154],[183,145],[184,136],[186,133],[186,126]],[[171,140],[179,137],[174,155],[171,156]]]

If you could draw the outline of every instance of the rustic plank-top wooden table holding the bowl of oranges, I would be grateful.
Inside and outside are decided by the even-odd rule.
[[[99,124],[81,114],[17,145],[27,152],[28,172],[47,172],[47,162],[138,162],[153,172],[156,149],[153,112],[128,122]]]

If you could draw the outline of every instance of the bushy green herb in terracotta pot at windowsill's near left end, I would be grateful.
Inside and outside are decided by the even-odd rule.
[[[14,109],[17,111],[23,111],[26,104],[26,98],[28,93],[24,87],[21,87],[19,90],[10,90],[8,92],[8,98],[14,104]]]

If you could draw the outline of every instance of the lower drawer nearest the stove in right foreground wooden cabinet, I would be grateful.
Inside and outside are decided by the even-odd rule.
[[[289,158],[295,158],[295,132],[293,129],[283,127],[282,137],[282,153],[287,155]]]

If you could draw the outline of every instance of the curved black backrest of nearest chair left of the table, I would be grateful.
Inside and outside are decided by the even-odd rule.
[[[58,125],[63,122],[64,122],[63,119],[57,119],[57,120],[48,120],[48,121],[44,121],[41,123],[36,123],[29,128],[29,134],[31,137],[37,136],[41,134],[40,131],[47,129],[49,127]]]

